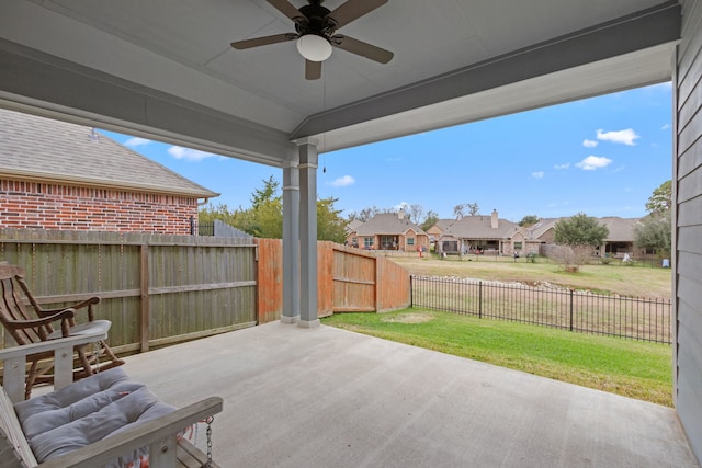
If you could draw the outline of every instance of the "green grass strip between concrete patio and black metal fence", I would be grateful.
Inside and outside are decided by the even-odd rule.
[[[335,313],[322,322],[672,407],[668,345],[423,309]]]

